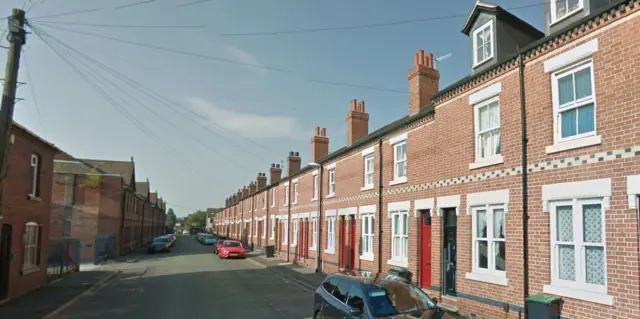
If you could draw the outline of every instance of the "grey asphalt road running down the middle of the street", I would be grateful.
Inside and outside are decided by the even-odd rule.
[[[250,260],[220,260],[193,236],[171,253],[149,255],[61,318],[274,318],[311,315],[313,292]]]

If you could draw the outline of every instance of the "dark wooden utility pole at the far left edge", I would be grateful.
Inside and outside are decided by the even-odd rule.
[[[9,150],[9,132],[13,123],[13,107],[15,106],[16,90],[18,88],[18,69],[20,68],[20,53],[26,42],[24,31],[25,13],[20,9],[13,9],[8,18],[9,54],[4,76],[2,104],[0,105],[0,203],[2,203],[2,185],[7,176],[7,153]],[[0,219],[2,210],[0,209]]]

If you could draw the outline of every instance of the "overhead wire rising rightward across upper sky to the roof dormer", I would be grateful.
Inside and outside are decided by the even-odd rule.
[[[505,10],[525,9],[525,8],[541,6],[541,5],[544,5],[544,4],[545,4],[545,2],[542,2],[542,3],[536,3],[536,4],[529,4],[529,5],[505,8]],[[399,21],[379,22],[379,23],[368,23],[368,24],[357,24],[357,25],[337,26],[337,27],[295,29],[295,30],[279,30],[279,31],[261,31],[261,32],[245,32],[245,33],[242,33],[242,32],[239,32],[239,33],[223,33],[221,35],[222,36],[227,36],[227,37],[243,37],[243,36],[264,36],[264,35],[279,35],[279,34],[314,33],[314,32],[328,32],[328,31],[347,31],[347,30],[390,27],[390,26],[397,26],[397,25],[403,25],[403,24],[439,21],[439,20],[447,20],[447,19],[455,19],[455,18],[465,18],[465,17],[468,17],[468,16],[469,16],[469,13],[464,13],[464,14],[452,14],[452,15],[439,16],[439,17],[426,17],[426,18],[417,18],[417,19],[409,19],[409,20],[399,20]]]

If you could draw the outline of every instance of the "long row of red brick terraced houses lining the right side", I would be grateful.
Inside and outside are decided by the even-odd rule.
[[[272,165],[218,232],[318,271],[406,267],[465,315],[516,318],[546,294],[566,318],[640,317],[639,10],[545,2],[540,31],[478,2],[468,76],[440,89],[418,51],[405,117],[369,133],[352,101],[345,147],[328,153],[316,128],[312,163]]]

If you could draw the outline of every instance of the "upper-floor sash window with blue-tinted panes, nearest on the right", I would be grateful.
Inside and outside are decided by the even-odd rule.
[[[555,141],[595,134],[595,88],[591,60],[551,76]]]

